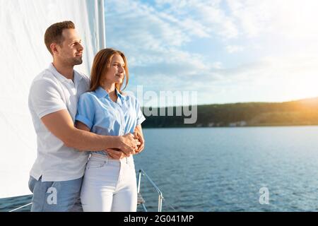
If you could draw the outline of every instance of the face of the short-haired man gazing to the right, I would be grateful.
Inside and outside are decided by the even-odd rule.
[[[83,45],[75,29],[64,29],[63,42],[57,45],[57,57],[69,66],[82,64]]]

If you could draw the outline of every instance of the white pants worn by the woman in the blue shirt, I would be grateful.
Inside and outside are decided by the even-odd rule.
[[[85,212],[136,212],[133,157],[113,160],[106,155],[91,155],[81,188],[81,202]]]

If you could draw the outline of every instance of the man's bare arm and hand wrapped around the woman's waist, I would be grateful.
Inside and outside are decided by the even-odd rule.
[[[136,147],[134,135],[102,136],[89,131],[77,129],[66,109],[47,114],[41,118],[47,129],[57,136],[63,143],[78,150],[105,150],[119,148],[124,153],[133,152]]]

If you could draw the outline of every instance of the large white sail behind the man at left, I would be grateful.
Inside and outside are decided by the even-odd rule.
[[[103,18],[102,0],[0,0],[0,198],[30,194],[37,151],[28,92],[52,61],[45,30],[63,20],[75,23],[85,47],[76,70],[89,75],[94,55],[105,47]]]

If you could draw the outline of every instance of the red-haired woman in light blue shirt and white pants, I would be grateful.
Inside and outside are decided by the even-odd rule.
[[[84,211],[136,211],[137,187],[133,154],[143,150],[141,123],[145,120],[139,102],[122,93],[129,72],[126,57],[114,49],[96,54],[90,77],[90,90],[78,100],[76,126],[101,135],[134,133],[138,149],[134,153],[107,149],[92,152],[81,188]]]

